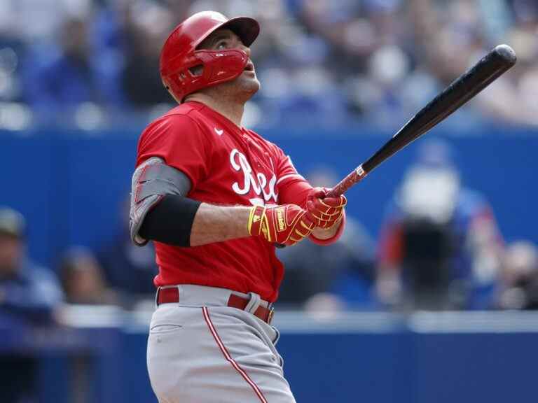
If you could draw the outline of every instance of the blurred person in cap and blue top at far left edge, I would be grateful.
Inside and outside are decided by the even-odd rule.
[[[62,292],[52,271],[25,256],[25,227],[20,213],[0,208],[0,312],[41,322],[50,320]]]

